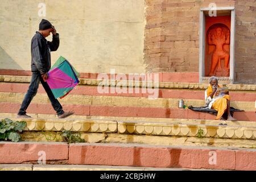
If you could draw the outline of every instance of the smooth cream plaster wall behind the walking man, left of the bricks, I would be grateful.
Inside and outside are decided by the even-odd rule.
[[[38,15],[42,2],[46,17]],[[53,63],[62,55],[79,72],[145,72],[144,0],[2,0],[0,69],[30,70],[30,42],[42,18],[60,34]]]

